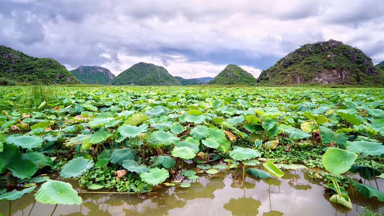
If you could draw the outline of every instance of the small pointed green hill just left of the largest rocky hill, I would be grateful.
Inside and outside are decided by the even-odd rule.
[[[254,85],[256,79],[252,74],[237,65],[228,65],[209,84],[216,85]]]

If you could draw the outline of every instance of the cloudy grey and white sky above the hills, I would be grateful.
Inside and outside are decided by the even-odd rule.
[[[256,78],[300,45],[339,40],[384,61],[383,0],[0,0],[0,45],[115,75],[139,62]]]

